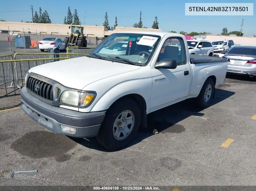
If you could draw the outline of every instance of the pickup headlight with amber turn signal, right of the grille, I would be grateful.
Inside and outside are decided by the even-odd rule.
[[[71,106],[86,107],[95,98],[95,93],[67,90],[61,94],[60,103]]]

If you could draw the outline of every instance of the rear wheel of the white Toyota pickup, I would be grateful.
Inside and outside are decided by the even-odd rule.
[[[211,94],[205,97],[206,90],[209,90],[209,87],[211,88]],[[208,91],[209,93],[209,91]],[[205,109],[211,105],[211,100],[214,94],[214,81],[212,78],[208,78],[205,82],[204,85],[196,98],[197,104],[199,107]]]

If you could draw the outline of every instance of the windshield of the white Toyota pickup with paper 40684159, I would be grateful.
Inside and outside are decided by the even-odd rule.
[[[103,40],[88,56],[126,64],[147,65],[160,38],[155,35],[114,33]]]

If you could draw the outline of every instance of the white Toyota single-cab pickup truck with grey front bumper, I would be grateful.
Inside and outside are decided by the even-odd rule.
[[[127,42],[122,45],[125,52],[100,53],[118,41]],[[189,54],[181,34],[118,32],[88,56],[31,68],[21,107],[53,132],[96,136],[104,147],[118,150],[135,138],[139,127],[147,126],[151,112],[188,98],[209,107],[227,66],[224,58]]]

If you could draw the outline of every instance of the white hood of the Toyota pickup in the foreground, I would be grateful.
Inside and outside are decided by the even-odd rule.
[[[68,88],[82,90],[94,81],[137,70],[140,67],[96,58],[78,57],[38,65],[28,72],[50,78]]]

